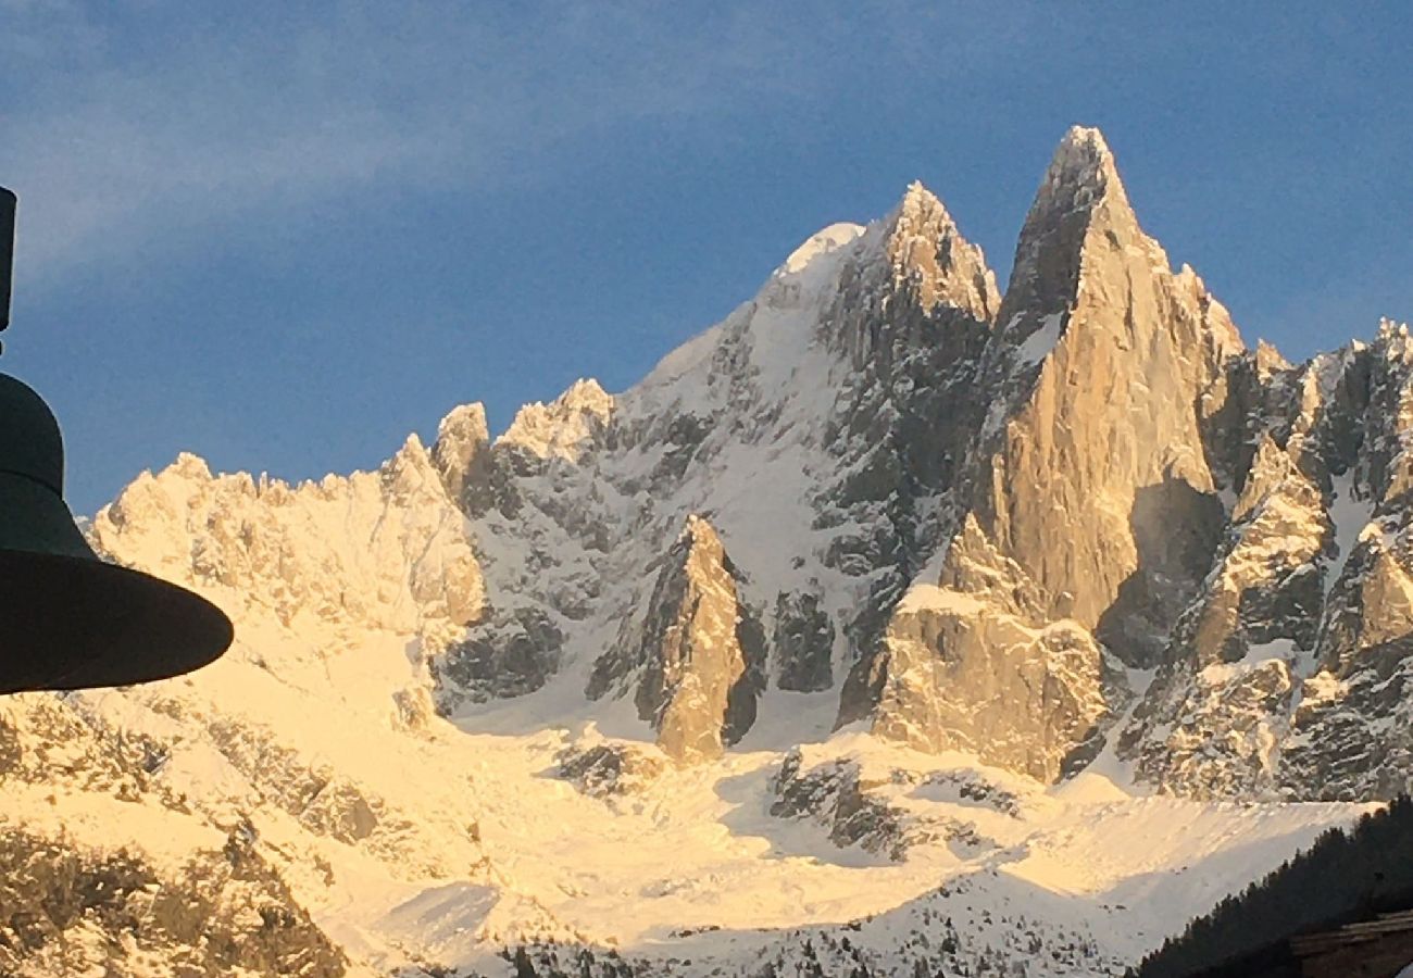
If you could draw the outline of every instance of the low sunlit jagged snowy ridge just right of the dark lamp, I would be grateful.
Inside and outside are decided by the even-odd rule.
[[[298,485],[213,476],[182,455],[99,510],[90,534],[102,553],[288,628],[461,628],[485,599],[465,520],[417,435],[376,472]]]

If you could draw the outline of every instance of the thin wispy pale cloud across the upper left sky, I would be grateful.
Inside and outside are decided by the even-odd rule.
[[[370,187],[533,179],[555,146],[643,120],[808,102],[858,83],[858,21],[769,7],[182,4],[4,0],[0,174],[20,188],[25,274],[150,253],[172,235]],[[880,6],[900,58],[910,17]],[[914,52],[917,54],[917,52]],[[962,57],[965,52],[957,52]],[[955,59],[954,59],[955,61]],[[959,65],[958,65],[959,66]],[[866,79],[865,79],[866,81]]]

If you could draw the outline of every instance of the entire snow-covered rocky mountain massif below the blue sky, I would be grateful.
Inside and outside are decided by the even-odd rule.
[[[1122,974],[1413,780],[1410,416],[1074,129],[1005,295],[914,184],[622,394],[184,455],[92,538],[236,646],[0,704],[0,968]]]

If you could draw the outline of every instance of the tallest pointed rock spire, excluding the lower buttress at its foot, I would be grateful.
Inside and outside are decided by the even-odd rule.
[[[1161,543],[1159,526],[1210,527],[1215,517],[1204,431],[1226,400],[1225,365],[1241,341],[1195,273],[1174,274],[1139,228],[1098,130],[1072,129],[1056,151],[1002,319],[1003,346],[1043,369],[1012,384],[982,526],[1050,595],[1048,613],[1102,622],[1128,649],[1122,657],[1145,660],[1176,603],[1161,599],[1157,612],[1143,564],[1154,564],[1157,591],[1180,581],[1187,591],[1205,571],[1201,553]],[[1105,509],[1081,502],[1092,499]],[[1200,536],[1197,550],[1211,543],[1208,529]],[[1154,637],[1108,630],[1129,601],[1163,619],[1150,622]]]

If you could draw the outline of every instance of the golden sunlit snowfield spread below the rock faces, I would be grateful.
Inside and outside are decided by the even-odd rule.
[[[129,845],[175,865],[249,818],[298,900],[365,974],[418,964],[510,974],[499,953],[523,943],[615,950],[671,974],[756,974],[798,960],[812,934],[817,954],[827,947],[818,934],[844,934],[873,967],[901,970],[937,953],[917,941],[944,930],[959,961],[991,948],[1030,960],[1030,975],[1122,974],[1364,810],[1159,797],[1116,765],[1047,789],[853,728],[804,745],[807,769],[856,765],[876,783],[869,796],[904,823],[968,827],[893,861],[841,848],[817,817],[770,813],[787,756],[770,731],[719,762],[678,767],[642,735],[623,736],[630,717],[591,709],[572,676],[408,729],[387,693],[415,673],[408,636],[331,635],[317,652],[280,626],[243,622],[240,635],[192,677],[71,697],[95,724],[171,743],[158,777],[187,796],[189,814],[34,787],[7,790],[0,825],[62,827],[83,845]],[[779,714],[805,724],[820,714],[827,729],[827,697],[774,695],[793,700]],[[595,797],[560,763],[599,743],[661,763]],[[283,752],[294,760],[277,770]],[[242,769],[232,755],[252,760]],[[338,808],[291,814],[277,796],[311,770],[336,772],[379,825],[341,839]]]

